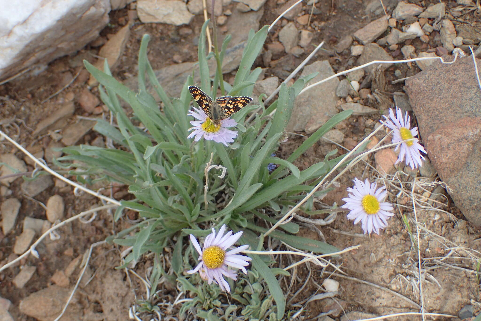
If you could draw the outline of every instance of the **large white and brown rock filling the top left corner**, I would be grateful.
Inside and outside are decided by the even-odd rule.
[[[3,1],[1,7],[0,79],[5,79],[96,39],[109,22],[110,0]]]

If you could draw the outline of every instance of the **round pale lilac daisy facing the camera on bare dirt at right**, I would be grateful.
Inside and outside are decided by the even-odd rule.
[[[347,189],[352,194],[342,199],[346,202],[342,207],[351,210],[347,218],[354,219],[354,224],[361,221],[364,234],[372,231],[379,234],[380,229],[388,226],[386,219],[394,215],[388,212],[392,211],[392,204],[383,202],[387,196],[385,189],[384,186],[377,189],[377,184],[370,184],[367,179],[363,183],[355,178],[354,187]]]

